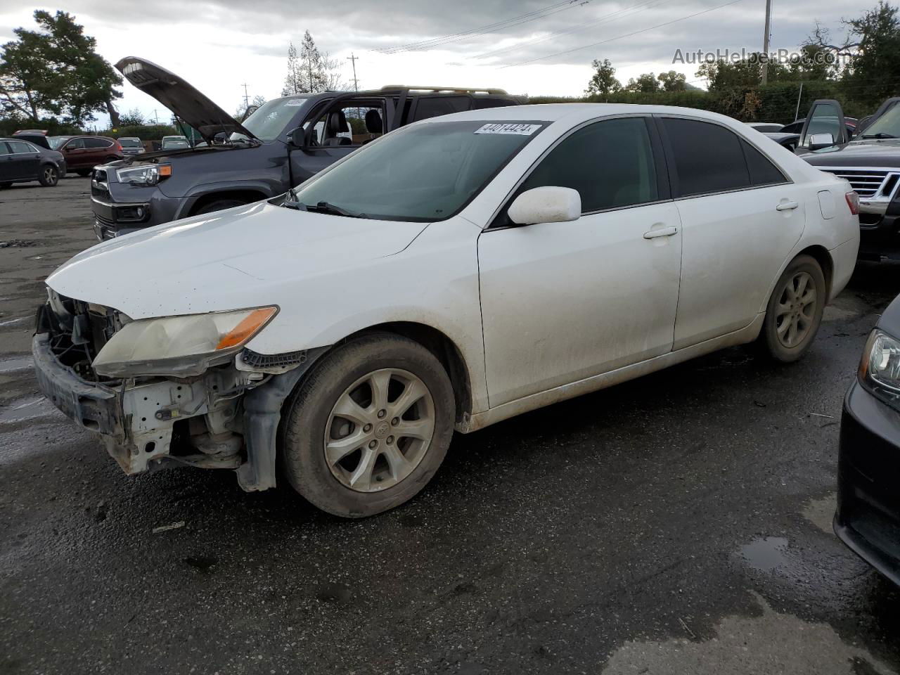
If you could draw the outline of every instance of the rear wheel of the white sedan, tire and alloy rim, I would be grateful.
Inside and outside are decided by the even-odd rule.
[[[760,344],[776,361],[790,363],[806,353],[822,323],[828,289],[822,266],[811,256],[797,256],[766,306]]]

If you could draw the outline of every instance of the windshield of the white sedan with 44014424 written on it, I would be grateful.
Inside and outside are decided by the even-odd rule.
[[[462,209],[545,122],[441,121],[394,131],[295,191],[308,207],[379,220],[444,220]]]

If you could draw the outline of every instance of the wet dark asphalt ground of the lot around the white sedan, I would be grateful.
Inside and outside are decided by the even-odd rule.
[[[831,531],[900,266],[860,264],[796,365],[727,349],[457,435],[419,497],[345,521],[126,477],[41,399],[31,316],[94,241],[88,189],[0,191],[0,673],[900,671],[900,592]]]

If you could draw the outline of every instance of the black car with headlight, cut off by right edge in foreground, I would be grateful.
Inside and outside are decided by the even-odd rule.
[[[878,319],[844,397],[834,532],[900,585],[900,300]]]

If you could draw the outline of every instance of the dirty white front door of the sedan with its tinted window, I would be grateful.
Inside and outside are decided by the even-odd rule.
[[[662,149],[643,117],[582,126],[517,190],[571,187],[581,219],[482,233],[491,407],[671,350],[680,222],[657,162]]]

